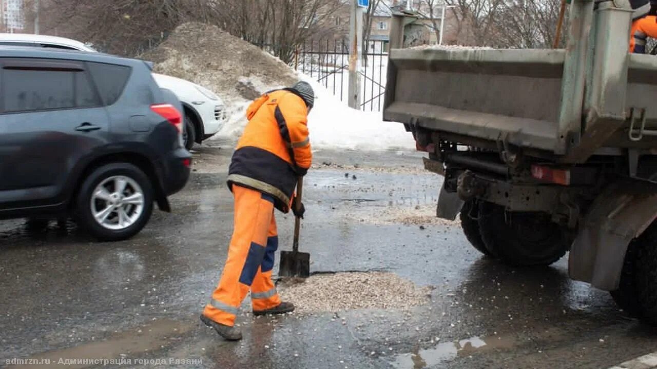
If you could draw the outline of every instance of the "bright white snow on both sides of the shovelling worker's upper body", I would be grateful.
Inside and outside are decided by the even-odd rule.
[[[386,122],[381,112],[363,112],[351,109],[317,83],[315,79],[300,74],[300,79],[310,83],[315,89],[315,107],[308,117],[310,141],[314,150],[354,149],[354,150],[392,150],[415,149],[411,133],[405,131],[400,123]],[[243,77],[240,81],[251,83],[264,93],[270,86],[255,77]],[[272,87],[273,88],[273,87]],[[227,111],[227,122],[214,139],[237,139],[242,133],[246,118],[244,112],[250,104],[248,100],[235,102]]]

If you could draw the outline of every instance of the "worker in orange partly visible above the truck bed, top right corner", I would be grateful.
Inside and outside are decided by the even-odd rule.
[[[657,38],[657,1],[630,0],[634,14],[629,34],[629,52],[646,53],[648,37]]]

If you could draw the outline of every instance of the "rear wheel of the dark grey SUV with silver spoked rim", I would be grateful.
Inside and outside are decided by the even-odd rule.
[[[78,223],[102,241],[134,236],[148,223],[152,210],[150,180],[130,163],[95,169],[82,184],[76,201]]]

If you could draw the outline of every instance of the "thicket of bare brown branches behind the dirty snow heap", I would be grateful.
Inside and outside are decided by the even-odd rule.
[[[31,0],[30,0],[31,1]],[[288,62],[300,43],[328,34],[342,0],[41,0],[41,30],[134,55],[182,22],[215,24]]]

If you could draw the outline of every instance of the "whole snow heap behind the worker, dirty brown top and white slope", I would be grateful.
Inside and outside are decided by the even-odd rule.
[[[313,148],[415,148],[403,125],[382,121],[380,112],[349,108],[311,77],[297,74],[275,56],[215,26],[183,24],[141,58],[155,62],[158,73],[193,81],[223,98],[227,121],[215,139],[237,139],[246,125],[244,113],[252,100],[265,91],[304,79],[313,85],[318,97],[309,116]]]

